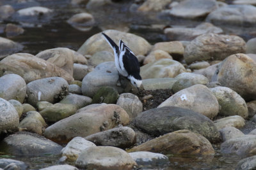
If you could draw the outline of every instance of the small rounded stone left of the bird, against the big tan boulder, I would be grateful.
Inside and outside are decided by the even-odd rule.
[[[102,62],[114,61],[115,57],[112,52],[100,51],[95,52],[92,57],[88,60],[91,66],[98,66]]]

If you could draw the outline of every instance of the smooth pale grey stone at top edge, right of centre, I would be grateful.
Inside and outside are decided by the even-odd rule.
[[[170,10],[170,15],[188,19],[206,17],[211,11],[217,8],[215,0],[186,0],[174,6]]]

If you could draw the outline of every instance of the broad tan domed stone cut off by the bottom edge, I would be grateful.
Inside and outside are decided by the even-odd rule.
[[[76,167],[83,169],[122,170],[137,166],[131,156],[113,146],[91,146],[81,152]]]

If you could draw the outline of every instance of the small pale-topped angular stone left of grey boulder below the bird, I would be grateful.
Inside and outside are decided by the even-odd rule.
[[[75,80],[82,81],[84,76],[86,76],[86,74],[88,74],[91,71],[93,71],[93,67],[86,66],[84,64],[76,64],[76,63],[74,63],[73,67],[74,67],[73,76],[74,76]]]

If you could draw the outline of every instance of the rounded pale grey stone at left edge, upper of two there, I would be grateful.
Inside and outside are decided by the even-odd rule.
[[[6,74],[0,77],[0,97],[6,99],[15,99],[20,103],[24,102],[26,97],[27,85],[24,79],[18,74]]]

